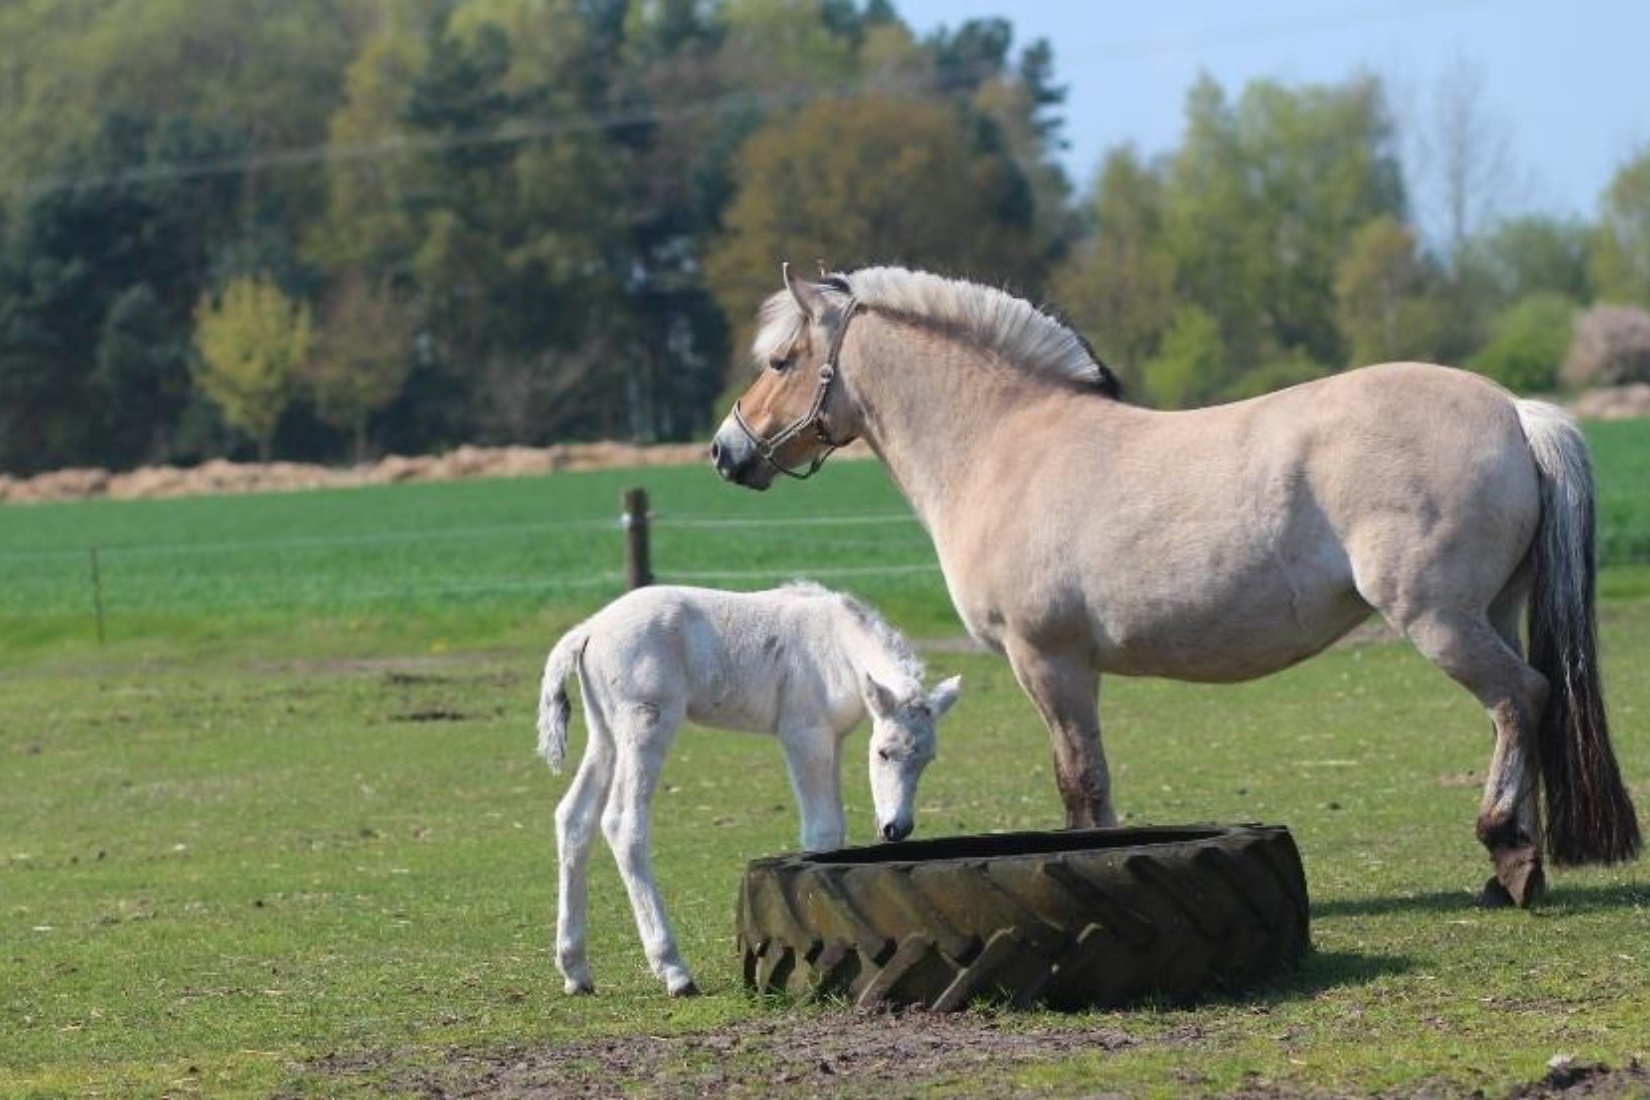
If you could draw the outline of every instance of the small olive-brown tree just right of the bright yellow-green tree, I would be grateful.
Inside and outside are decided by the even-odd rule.
[[[346,274],[322,310],[315,351],[297,363],[322,421],[348,432],[355,460],[368,457],[368,425],[398,396],[412,369],[412,305],[361,272]]]

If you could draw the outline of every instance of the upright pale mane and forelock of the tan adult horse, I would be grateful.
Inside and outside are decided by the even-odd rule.
[[[843,302],[851,295],[863,308],[959,330],[1025,369],[1107,397],[1122,397],[1122,384],[1087,340],[1056,317],[997,287],[904,267],[833,274],[825,277],[822,287]],[[772,295],[762,305],[752,348],[757,363],[794,341],[805,322],[789,292]]]

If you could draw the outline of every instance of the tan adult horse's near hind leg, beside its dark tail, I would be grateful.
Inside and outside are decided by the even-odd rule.
[[[1536,816],[1536,731],[1548,684],[1518,651],[1516,600],[1503,594],[1490,615],[1493,625],[1483,613],[1432,610],[1404,623],[1404,633],[1490,714],[1495,752],[1477,833],[1490,849],[1495,877],[1480,900],[1528,905],[1544,886]]]

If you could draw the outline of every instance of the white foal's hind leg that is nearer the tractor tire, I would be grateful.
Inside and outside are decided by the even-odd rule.
[[[642,937],[648,966],[665,983],[672,996],[693,996],[698,986],[688,973],[676,935],[665,915],[665,899],[653,881],[653,858],[648,849],[648,826],[653,787],[675,740],[685,707],[632,706],[614,721],[617,760],[614,783],[602,813],[602,833],[614,851],[619,876],[630,894],[630,910]]]

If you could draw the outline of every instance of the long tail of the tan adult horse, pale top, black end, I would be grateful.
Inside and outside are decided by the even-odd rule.
[[[1518,419],[1541,480],[1541,523],[1530,551],[1530,665],[1549,684],[1536,734],[1546,846],[1558,864],[1620,863],[1638,854],[1640,838],[1599,686],[1592,463],[1563,409],[1520,401]]]

